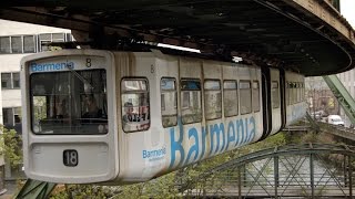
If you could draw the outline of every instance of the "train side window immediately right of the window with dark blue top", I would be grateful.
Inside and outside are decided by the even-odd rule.
[[[206,80],[204,82],[204,108],[206,119],[222,117],[222,92],[221,82],[217,80]]]

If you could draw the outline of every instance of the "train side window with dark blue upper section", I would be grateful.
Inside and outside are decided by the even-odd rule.
[[[182,123],[200,123],[201,111],[201,83],[200,80],[181,80]]]

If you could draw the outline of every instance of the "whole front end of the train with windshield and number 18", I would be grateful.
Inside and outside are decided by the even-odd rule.
[[[63,184],[118,176],[110,52],[45,52],[21,61],[24,171]]]

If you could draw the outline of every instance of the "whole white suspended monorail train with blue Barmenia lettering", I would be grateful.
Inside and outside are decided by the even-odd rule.
[[[140,182],[276,134],[306,113],[304,76],[150,52],[21,61],[29,178]]]

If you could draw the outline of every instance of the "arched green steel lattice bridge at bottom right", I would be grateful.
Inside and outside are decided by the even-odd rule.
[[[191,178],[186,198],[353,198],[355,147],[287,145],[232,159]]]

